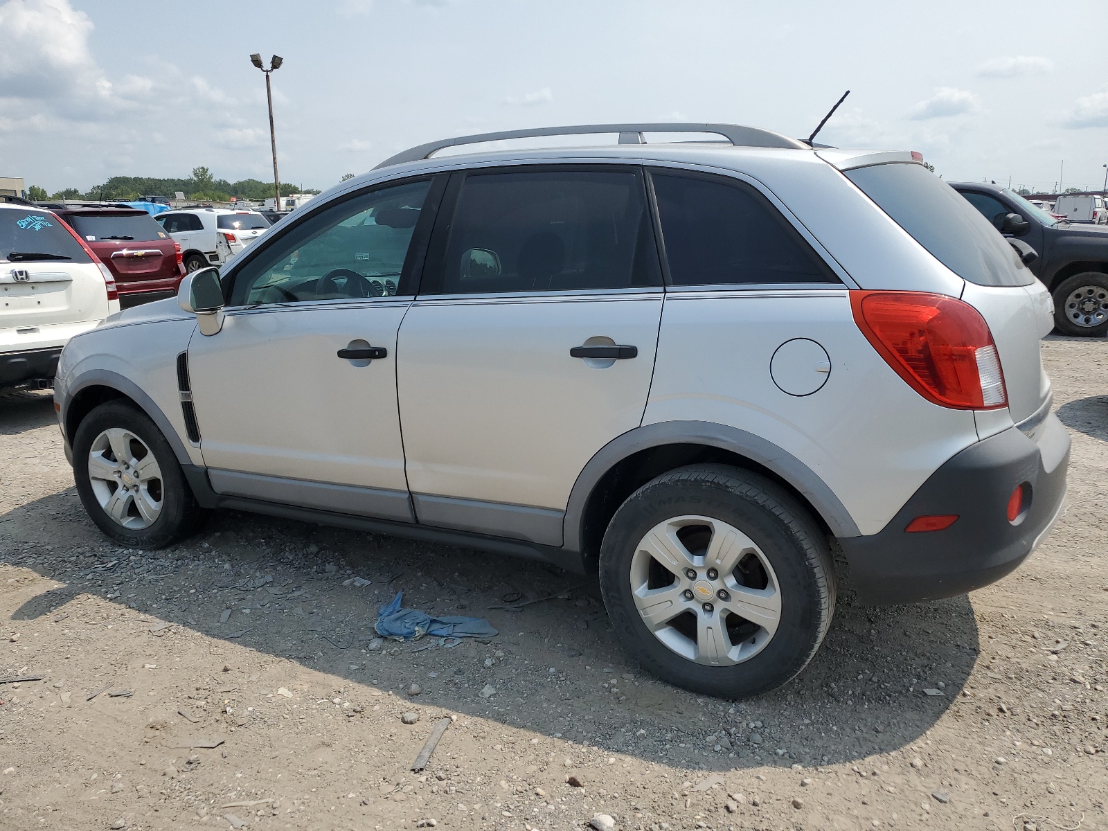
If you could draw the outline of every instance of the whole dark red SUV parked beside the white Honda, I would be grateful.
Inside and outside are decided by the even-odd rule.
[[[115,205],[58,206],[58,214],[115,276],[120,307],[177,293],[181,246],[145,211]]]

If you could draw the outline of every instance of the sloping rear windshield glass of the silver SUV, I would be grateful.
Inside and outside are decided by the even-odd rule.
[[[1035,280],[988,219],[922,164],[879,164],[845,174],[958,277],[978,286]]]

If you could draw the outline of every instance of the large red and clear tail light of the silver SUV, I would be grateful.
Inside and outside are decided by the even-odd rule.
[[[873,348],[929,401],[958,410],[1008,406],[993,334],[970,304],[922,291],[851,291],[850,305]]]

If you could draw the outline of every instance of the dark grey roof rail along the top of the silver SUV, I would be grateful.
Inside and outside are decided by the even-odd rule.
[[[687,123],[650,123],[650,124],[578,124],[567,127],[535,127],[532,130],[505,130],[499,133],[479,133],[462,135],[454,138],[443,138],[428,142],[397,153],[381,162],[373,170],[391,167],[404,162],[418,162],[430,158],[434,153],[445,147],[456,147],[461,144],[480,144],[482,142],[499,142],[505,138],[538,138],[547,135],[588,135],[593,133],[618,133],[619,144],[646,144],[643,133],[714,133],[727,138],[735,146],[743,147],[782,147],[791,150],[810,150],[810,146],[797,138],[774,133],[761,127],[747,127],[741,124],[687,124]]]

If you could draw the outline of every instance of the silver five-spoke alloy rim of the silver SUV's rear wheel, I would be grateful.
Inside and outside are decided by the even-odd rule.
[[[650,529],[632,556],[630,588],[654,636],[697,664],[749,660],[781,620],[781,593],[765,553],[709,516],[676,516]]]

